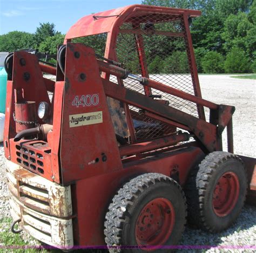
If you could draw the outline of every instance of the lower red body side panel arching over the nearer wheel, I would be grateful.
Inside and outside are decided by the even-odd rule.
[[[76,182],[72,199],[77,219],[73,220],[74,242],[77,245],[105,245],[104,219],[113,196],[123,183],[143,173],[179,176],[184,184],[191,168],[204,158],[199,148],[190,147],[160,154],[142,161],[126,164],[125,168],[105,175]],[[174,176],[176,174],[176,176]]]

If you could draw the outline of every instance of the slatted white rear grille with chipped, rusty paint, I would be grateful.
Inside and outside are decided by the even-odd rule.
[[[21,218],[21,227],[39,241],[60,249],[72,248],[70,186],[59,186],[9,160],[6,161],[6,167],[14,220]],[[19,192],[28,197],[20,198]],[[42,201],[48,202],[49,206]]]

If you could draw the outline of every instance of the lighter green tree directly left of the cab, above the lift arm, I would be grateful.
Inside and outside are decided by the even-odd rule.
[[[50,54],[57,53],[58,45],[62,45],[64,42],[65,35],[57,33],[55,36],[46,38],[43,42],[40,43],[38,50],[39,52],[46,52]]]

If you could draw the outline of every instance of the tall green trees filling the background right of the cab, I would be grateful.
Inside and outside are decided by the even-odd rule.
[[[200,10],[191,35],[199,73],[256,72],[256,0],[144,0],[143,4]],[[182,69],[183,52],[174,52]],[[165,65],[156,60],[157,65]],[[162,69],[164,71],[164,68]],[[185,71],[185,70],[183,70]]]

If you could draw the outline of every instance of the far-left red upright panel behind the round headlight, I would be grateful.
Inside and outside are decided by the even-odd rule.
[[[5,157],[10,160],[9,139],[16,135],[15,121],[13,118],[14,103],[35,101],[36,108],[39,102],[45,101],[50,104],[46,91],[42,71],[35,55],[18,51],[14,52],[12,81],[7,83],[6,115],[4,126]],[[38,120],[38,123],[42,123]]]

